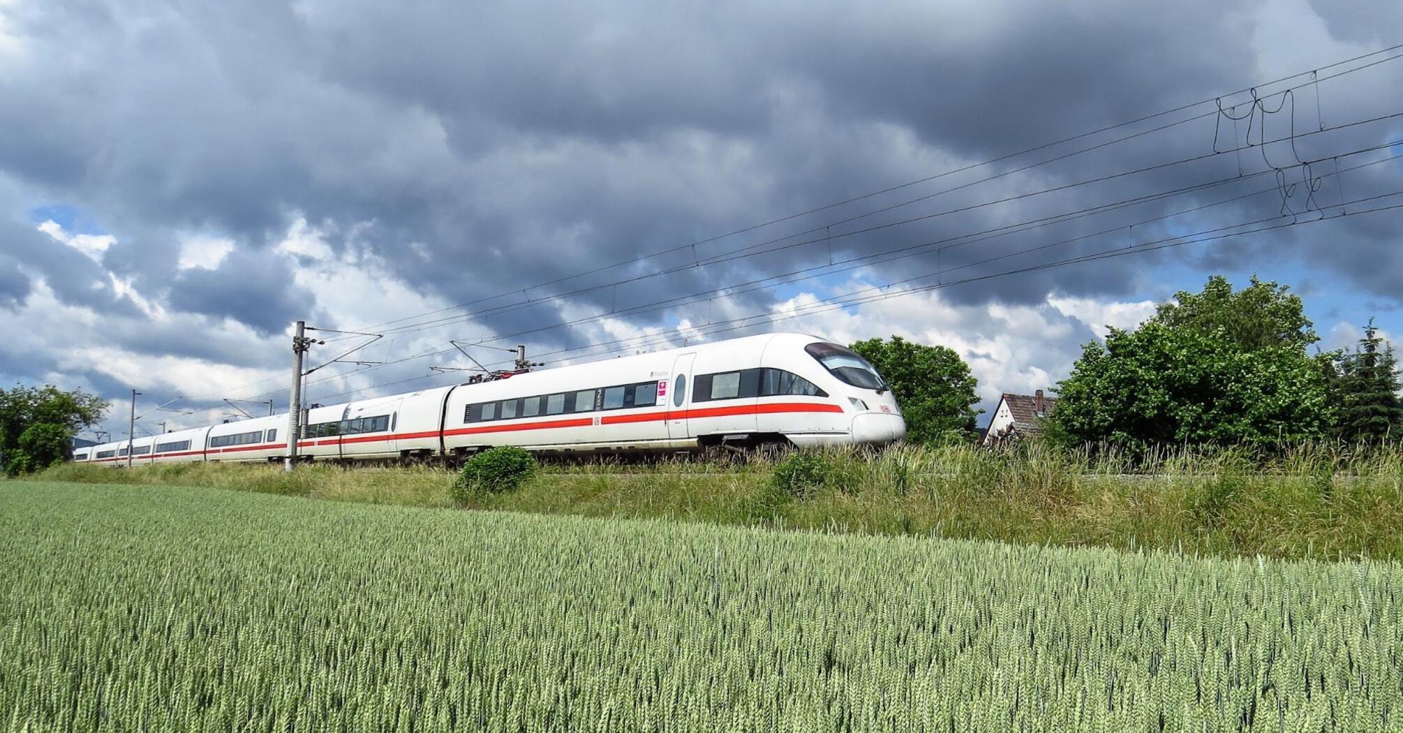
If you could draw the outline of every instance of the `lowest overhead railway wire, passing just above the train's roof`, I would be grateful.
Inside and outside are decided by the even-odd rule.
[[[1365,197],[1365,198],[1344,201],[1344,202],[1341,202],[1341,205],[1343,206],[1351,206],[1351,205],[1361,204],[1361,202],[1378,201],[1378,199],[1382,199],[1382,198],[1400,197],[1400,195],[1403,195],[1403,190],[1397,190],[1397,191],[1392,191],[1392,192],[1381,194],[1381,195],[1375,195],[1375,197]],[[622,351],[637,350],[637,348],[648,348],[651,345],[658,345],[658,344],[669,343],[676,336],[687,333],[687,331],[690,331],[694,336],[716,336],[716,334],[721,334],[721,333],[730,333],[730,331],[734,331],[734,330],[739,330],[739,329],[753,327],[758,323],[748,323],[748,322],[758,320],[758,319],[766,319],[763,322],[766,324],[769,324],[769,323],[777,323],[777,322],[790,320],[790,319],[796,319],[796,317],[812,316],[812,315],[819,315],[819,313],[825,313],[825,312],[831,312],[831,310],[839,310],[839,309],[845,309],[845,308],[852,308],[854,305],[863,305],[863,303],[870,303],[870,302],[877,302],[877,301],[890,301],[890,299],[894,299],[894,298],[905,298],[905,296],[916,295],[916,293],[920,293],[920,292],[930,292],[930,291],[936,291],[936,289],[941,289],[941,288],[950,288],[950,286],[954,286],[954,285],[965,285],[965,284],[971,284],[971,282],[982,282],[982,281],[993,279],[993,278],[999,278],[999,277],[1016,275],[1016,274],[1023,274],[1023,272],[1033,272],[1033,271],[1038,271],[1038,270],[1051,270],[1051,268],[1055,268],[1055,267],[1066,267],[1066,265],[1080,264],[1080,263],[1086,263],[1086,261],[1122,257],[1122,256],[1128,256],[1128,254],[1139,254],[1139,253],[1146,253],[1146,251],[1157,251],[1157,250],[1164,250],[1164,249],[1172,249],[1172,247],[1180,247],[1180,246],[1184,246],[1184,244],[1200,244],[1200,243],[1205,243],[1205,242],[1216,242],[1216,240],[1236,237],[1236,236],[1247,236],[1247,235],[1256,235],[1256,233],[1263,233],[1263,232],[1273,232],[1273,230],[1280,230],[1280,229],[1287,229],[1287,227],[1294,227],[1294,226],[1302,226],[1302,225],[1308,225],[1308,223],[1317,223],[1317,222],[1322,222],[1322,220],[1341,219],[1341,218],[1350,218],[1350,216],[1361,216],[1361,215],[1367,215],[1367,213],[1378,213],[1378,212],[1383,212],[1383,211],[1396,211],[1396,209],[1403,209],[1403,204],[1392,204],[1392,205],[1385,205],[1385,206],[1375,206],[1375,208],[1369,208],[1369,209],[1357,209],[1357,211],[1348,211],[1348,212],[1341,211],[1340,213],[1336,213],[1336,215],[1324,215],[1322,212],[1322,216],[1315,218],[1315,219],[1306,219],[1306,220],[1301,220],[1299,216],[1282,215],[1282,216],[1275,216],[1275,218],[1271,218],[1271,219],[1261,219],[1261,220],[1257,220],[1257,222],[1244,222],[1244,223],[1229,225],[1229,226],[1225,226],[1225,227],[1216,227],[1216,229],[1211,229],[1211,230],[1205,230],[1205,232],[1195,232],[1195,233],[1190,233],[1190,235],[1180,235],[1180,236],[1176,236],[1176,237],[1166,237],[1163,240],[1156,240],[1156,242],[1149,242],[1149,243],[1143,243],[1143,244],[1136,244],[1134,247],[1114,247],[1114,249],[1108,249],[1108,250],[1103,250],[1103,251],[1092,253],[1092,254],[1086,254],[1086,256],[1078,256],[1078,257],[1070,257],[1070,258],[1065,258],[1065,260],[1059,260],[1059,261],[1042,263],[1042,264],[1037,264],[1037,265],[1020,267],[1020,268],[1006,270],[1006,271],[1000,271],[1000,272],[992,272],[992,274],[984,274],[984,275],[974,275],[974,277],[962,278],[962,279],[958,279],[958,281],[940,282],[940,284],[934,284],[934,285],[923,285],[923,286],[916,286],[916,288],[905,288],[905,289],[901,289],[901,291],[897,291],[897,292],[878,292],[878,293],[874,293],[874,295],[866,295],[866,296],[853,298],[854,293],[870,292],[870,291],[885,291],[887,288],[891,288],[891,286],[897,286],[897,285],[901,285],[901,284],[906,284],[906,282],[912,282],[912,281],[919,281],[919,279],[926,279],[926,278],[939,275],[939,272],[926,272],[926,274],[918,275],[915,278],[906,278],[904,281],[897,281],[897,282],[891,282],[891,284],[887,284],[887,285],[877,285],[877,286],[871,286],[871,288],[863,288],[860,291],[856,291],[854,293],[845,293],[842,296],[835,296],[833,299],[825,299],[825,301],[821,301],[821,302],[815,302],[815,303],[812,303],[810,306],[805,306],[803,309],[796,309],[794,312],[790,312],[790,313],[773,313],[773,312],[758,313],[758,315],[744,316],[744,317],[738,317],[738,319],[728,319],[728,320],[720,322],[717,324],[717,326],[725,326],[725,327],[702,326],[702,327],[685,329],[685,330],[683,329],[673,329],[673,330],[668,330],[668,331],[662,331],[662,333],[657,333],[657,334],[648,334],[648,336],[644,336],[644,337],[636,337],[636,338],[627,338],[627,340],[616,340],[616,341],[605,341],[605,343],[592,344],[592,345],[579,347],[579,348],[565,348],[565,350],[557,350],[557,351],[547,351],[547,352],[539,354],[539,357],[574,354],[574,352],[578,352],[578,351],[589,351],[589,352],[588,354],[577,354],[577,357],[603,357],[603,355],[616,354],[616,352],[622,352]],[[1256,223],[1270,222],[1270,220],[1274,220],[1274,219],[1291,219],[1291,220],[1281,222],[1281,223],[1277,223],[1277,225],[1273,225],[1273,226],[1263,226],[1263,227],[1258,227],[1258,229],[1251,229],[1251,230],[1247,230],[1247,232],[1222,232],[1223,229],[1240,229],[1243,226],[1251,226],[1251,225],[1256,225]],[[1208,235],[1208,236],[1198,236],[1198,235]],[[985,261],[981,261],[981,263],[972,263],[972,265],[974,264],[986,264],[989,261],[999,260],[999,258],[1006,258],[1006,257],[1012,257],[1012,256],[1016,256],[1016,254],[1024,254],[1024,253],[1021,253],[1021,251],[1020,253],[1010,253],[1010,254],[1000,256],[1000,257],[991,258],[991,260],[985,260]],[[648,341],[633,343],[637,338],[645,338]],[[620,343],[623,343],[623,345],[617,345],[616,348],[598,350],[599,347],[603,347],[603,345],[613,345],[613,344],[620,344]],[[488,366],[491,366],[491,365],[499,365],[499,364],[506,364],[506,362],[492,362],[492,364],[488,364]],[[396,381],[396,382],[383,382],[383,383],[369,385],[369,386],[365,386],[365,388],[351,389],[351,390],[345,390],[345,392],[321,395],[321,396],[318,396],[318,399],[341,397],[341,396],[347,396],[347,395],[358,395],[361,392],[369,392],[369,390],[380,389],[380,388],[386,388],[386,386],[405,385],[405,383],[418,382],[418,381],[424,381],[424,379],[429,379],[429,378],[435,378],[435,376],[441,376],[441,375],[429,374],[429,375],[412,376],[412,378],[408,378],[408,379],[400,379],[400,381]]]

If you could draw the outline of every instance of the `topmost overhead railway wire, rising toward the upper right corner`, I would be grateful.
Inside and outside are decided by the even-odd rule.
[[[1337,79],[1337,77],[1341,77],[1341,76],[1345,76],[1345,74],[1350,74],[1350,73],[1355,73],[1355,72],[1361,72],[1361,70],[1369,69],[1369,67],[1381,65],[1381,63],[1388,63],[1390,60],[1403,58],[1403,55],[1388,56],[1388,58],[1383,58],[1383,59],[1375,59],[1374,62],[1369,62],[1367,65],[1362,65],[1362,66],[1358,66],[1358,67],[1352,67],[1352,69],[1348,69],[1348,70],[1344,70],[1344,72],[1340,72],[1340,73],[1329,74],[1329,76],[1324,76],[1324,77],[1322,77],[1319,74],[1319,72],[1323,72],[1323,70],[1327,70],[1327,69],[1336,69],[1338,66],[1344,66],[1344,65],[1348,65],[1348,63],[1364,60],[1364,59],[1368,59],[1371,56],[1386,55],[1386,53],[1390,53],[1390,52],[1399,51],[1399,49],[1403,49],[1403,44],[1393,45],[1393,46],[1386,46],[1386,48],[1382,48],[1382,49],[1378,49],[1378,51],[1372,51],[1372,52],[1368,52],[1368,53],[1361,53],[1361,55],[1352,56],[1350,59],[1343,59],[1343,60],[1338,60],[1338,62],[1334,62],[1334,63],[1330,63],[1330,65],[1326,65],[1326,66],[1320,66],[1320,67],[1316,67],[1316,69],[1312,69],[1312,70],[1308,70],[1308,72],[1298,72],[1298,73],[1294,73],[1294,74],[1282,76],[1282,77],[1274,79],[1271,81],[1264,81],[1264,83],[1260,83],[1260,84],[1256,84],[1256,86],[1243,87],[1243,88],[1235,90],[1235,91],[1229,91],[1226,94],[1221,94],[1221,95],[1216,95],[1216,97],[1209,97],[1209,98],[1198,100],[1198,101],[1194,101],[1194,103],[1181,104],[1181,105],[1170,108],[1170,110],[1164,110],[1164,111],[1160,111],[1160,112],[1153,112],[1153,114],[1149,114],[1149,115],[1143,115],[1143,117],[1139,117],[1139,118],[1135,118],[1135,119],[1129,119],[1129,121],[1125,121],[1125,122],[1118,122],[1118,124],[1114,124],[1114,125],[1107,125],[1107,126],[1097,128],[1097,129],[1093,129],[1093,131],[1089,131],[1089,132],[1082,132],[1082,133],[1078,133],[1078,135],[1062,138],[1059,140],[1054,140],[1054,142],[1048,142],[1048,143],[1041,143],[1041,145],[1037,145],[1037,146],[1033,146],[1033,147],[1027,147],[1027,149],[1023,149],[1023,150],[1017,150],[1017,152],[1013,152],[1013,153],[1006,153],[1003,156],[998,156],[998,157],[993,157],[993,159],[982,160],[982,161],[978,161],[978,163],[971,163],[971,164],[967,164],[967,166],[951,169],[951,170],[947,170],[947,171],[943,171],[943,173],[937,173],[937,174],[933,174],[933,176],[927,176],[927,177],[923,177],[923,178],[916,178],[913,181],[906,181],[906,183],[901,183],[901,184],[897,184],[897,185],[892,185],[892,187],[887,187],[887,188],[881,188],[881,190],[877,190],[877,191],[870,191],[870,192],[866,192],[866,194],[861,194],[861,195],[857,195],[857,197],[852,197],[852,198],[847,198],[847,199],[843,199],[843,201],[838,201],[838,202],[833,202],[833,204],[826,204],[826,205],[822,205],[822,206],[817,206],[817,208],[812,208],[812,209],[808,209],[808,211],[803,211],[803,212],[798,212],[798,213],[791,213],[791,215],[781,216],[781,218],[777,218],[777,219],[770,219],[770,220],[763,222],[763,223],[745,226],[745,227],[735,229],[735,230],[731,230],[731,232],[727,232],[727,233],[723,233],[723,235],[716,235],[716,236],[711,236],[711,237],[706,237],[706,239],[689,242],[686,244],[679,244],[679,246],[675,246],[675,247],[671,247],[671,249],[658,250],[658,251],[654,251],[654,253],[650,253],[650,254],[644,254],[644,256],[640,256],[640,257],[633,257],[633,258],[623,260],[623,261],[619,261],[619,263],[615,263],[615,264],[609,264],[609,265],[596,267],[596,268],[592,268],[592,270],[586,270],[584,272],[577,272],[577,274],[572,274],[572,275],[565,275],[565,277],[556,278],[556,279],[551,279],[551,281],[539,282],[536,285],[529,285],[526,288],[515,288],[515,289],[511,289],[511,291],[504,291],[504,292],[501,292],[498,295],[484,296],[484,298],[478,298],[478,299],[469,301],[469,302],[464,302],[464,303],[459,303],[459,305],[453,305],[453,306],[446,306],[446,308],[436,309],[436,310],[429,310],[429,312],[425,312],[425,313],[418,313],[418,315],[414,315],[414,316],[404,316],[404,317],[400,317],[400,319],[394,319],[394,320],[389,320],[389,322],[382,322],[382,323],[377,323],[375,326],[368,326],[368,327],[362,327],[362,329],[358,329],[358,330],[372,330],[372,329],[379,329],[379,327],[383,327],[383,326],[390,326],[390,324],[394,324],[394,323],[401,323],[404,320],[412,320],[412,319],[425,317],[425,316],[429,316],[429,315],[443,313],[443,312],[448,312],[448,310],[456,310],[456,309],[460,309],[460,308],[466,308],[466,306],[470,306],[470,305],[476,305],[476,303],[492,301],[492,299],[497,299],[497,298],[516,295],[518,292],[525,292],[525,291],[530,291],[530,289],[536,289],[536,288],[556,285],[556,284],[565,282],[565,281],[570,281],[570,279],[575,279],[575,278],[579,278],[579,277],[586,277],[586,275],[591,275],[591,274],[596,274],[596,272],[602,272],[602,271],[607,271],[607,270],[615,270],[615,268],[624,267],[624,265],[629,265],[629,264],[633,264],[633,263],[640,263],[640,261],[644,261],[644,260],[648,260],[648,258],[652,258],[652,257],[659,257],[659,256],[664,256],[664,254],[683,251],[683,250],[687,250],[690,247],[696,247],[697,244],[707,244],[707,243],[711,243],[711,242],[716,242],[716,240],[720,240],[720,239],[725,239],[725,237],[731,237],[731,236],[735,236],[735,235],[742,235],[742,233],[753,232],[753,230],[758,230],[758,229],[763,229],[766,226],[772,226],[772,225],[788,222],[788,220],[798,219],[798,218],[803,218],[803,216],[808,216],[808,215],[812,215],[812,213],[819,213],[819,212],[829,211],[829,209],[833,209],[833,208],[838,208],[838,206],[843,206],[843,205],[847,205],[847,204],[854,204],[857,201],[864,201],[867,198],[878,197],[878,195],[894,192],[894,191],[898,191],[898,190],[902,190],[902,188],[909,188],[909,187],[913,187],[913,185],[919,185],[919,184],[923,184],[923,183],[939,180],[939,178],[943,178],[943,177],[947,177],[947,176],[964,173],[964,171],[974,170],[974,169],[984,167],[984,166],[991,166],[991,164],[1000,163],[1000,161],[1005,161],[1005,160],[1010,160],[1010,159],[1014,159],[1014,157],[1019,157],[1019,156],[1023,156],[1023,154],[1035,153],[1035,152],[1040,152],[1040,150],[1055,147],[1058,145],[1065,145],[1065,143],[1069,143],[1069,142],[1073,142],[1073,140],[1079,140],[1079,139],[1083,139],[1083,138],[1099,135],[1101,132],[1110,132],[1113,129],[1118,129],[1118,128],[1135,125],[1135,124],[1139,124],[1139,122],[1146,122],[1149,119],[1155,119],[1155,118],[1159,118],[1159,117],[1166,117],[1166,115],[1170,115],[1170,114],[1174,114],[1174,112],[1181,112],[1181,111],[1190,110],[1193,107],[1198,107],[1198,105],[1204,105],[1204,104],[1215,104],[1216,108],[1212,112],[1209,112],[1209,115],[1216,115],[1216,114],[1219,114],[1219,111],[1222,108],[1221,103],[1222,103],[1223,97],[1233,97],[1233,95],[1239,95],[1239,94],[1254,93],[1257,90],[1261,90],[1263,87],[1270,87],[1273,84],[1278,84],[1278,83],[1288,81],[1288,80],[1292,80],[1292,79],[1310,76],[1310,81],[1308,81],[1305,84],[1301,84],[1298,87],[1291,87],[1291,88],[1305,88],[1305,87],[1319,88],[1319,83],[1320,81],[1327,81],[1327,80]],[[1278,93],[1271,93],[1271,94],[1268,94],[1267,97],[1263,97],[1263,98],[1270,98],[1270,97],[1274,97],[1277,94],[1282,94],[1285,91],[1288,91],[1288,90],[1281,90]],[[1317,103],[1319,103],[1319,97],[1317,97]],[[1242,104],[1247,104],[1247,103],[1244,101]],[[1179,124],[1190,122],[1190,121],[1200,119],[1200,118],[1202,118],[1202,117],[1188,118],[1188,119],[1180,121]],[[1061,160],[1061,157],[1054,159],[1054,160]],[[1047,161],[1044,161],[1044,163],[1047,163]],[[1042,164],[1042,163],[1040,163],[1040,164]],[[913,201],[920,201],[920,199],[913,199]],[[909,202],[906,202],[906,204],[909,204]],[[901,205],[906,205],[906,204],[901,204]],[[863,216],[868,216],[868,215],[873,215],[873,213],[881,213],[884,211],[890,211],[890,208],[877,209],[877,211],[868,212],[868,213],[866,213]],[[859,216],[859,218],[861,218],[861,216]],[[815,232],[819,232],[819,230],[822,230],[822,229],[825,229],[828,226],[835,226],[835,222],[828,222],[825,225],[821,225],[821,226],[817,226],[814,229],[808,229],[808,230],[804,230],[804,232],[798,232],[798,233],[791,235],[791,236],[801,236],[801,235],[805,235],[805,233],[815,233]]]

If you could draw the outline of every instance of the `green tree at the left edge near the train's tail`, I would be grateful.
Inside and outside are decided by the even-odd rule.
[[[108,403],[81,390],[15,385],[0,389],[0,461],[4,472],[51,466],[69,455],[73,435],[102,421]]]

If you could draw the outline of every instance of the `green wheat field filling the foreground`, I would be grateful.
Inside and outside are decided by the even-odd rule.
[[[1403,566],[0,483],[7,730],[1403,730]]]

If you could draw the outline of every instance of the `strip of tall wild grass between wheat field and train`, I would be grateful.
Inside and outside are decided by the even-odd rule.
[[[905,447],[877,459],[826,459],[826,483],[801,498],[773,491],[765,463],[554,465],[469,508],[1215,556],[1403,559],[1403,454],[1392,449],[1310,448],[1257,462],[1235,451],[1183,451],[1131,465],[1037,447]],[[286,475],[217,463],[130,472],[66,465],[39,477],[452,506],[452,476],[436,469],[309,466]]]

